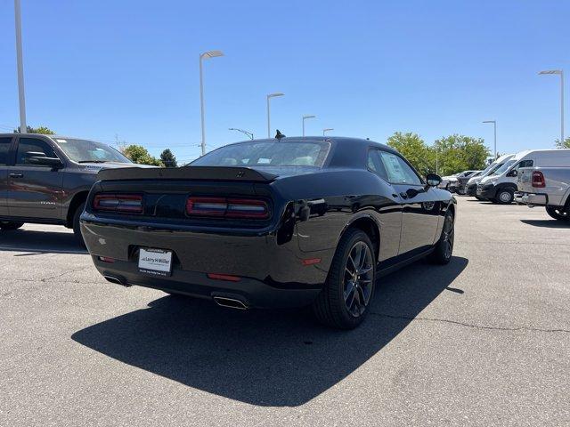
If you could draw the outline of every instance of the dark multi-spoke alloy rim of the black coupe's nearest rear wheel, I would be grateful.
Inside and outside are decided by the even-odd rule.
[[[371,248],[356,242],[345,265],[344,292],[346,310],[354,317],[362,315],[371,301],[374,265]]]

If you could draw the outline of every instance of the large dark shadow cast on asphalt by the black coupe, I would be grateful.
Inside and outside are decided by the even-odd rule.
[[[454,256],[446,266],[418,262],[380,278],[369,317],[353,331],[319,326],[307,310],[238,311],[165,296],[71,338],[201,391],[251,405],[294,407],[382,350],[467,265]],[[452,289],[454,298],[462,298]]]

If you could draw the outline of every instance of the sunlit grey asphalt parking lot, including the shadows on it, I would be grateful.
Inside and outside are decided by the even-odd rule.
[[[459,197],[450,265],[358,329],[106,282],[69,230],[0,234],[0,425],[570,425],[570,224]]]

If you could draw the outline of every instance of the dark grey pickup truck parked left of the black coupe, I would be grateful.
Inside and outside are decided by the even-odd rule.
[[[79,231],[79,215],[102,168],[132,167],[97,141],[37,133],[0,133],[0,229],[25,222]]]

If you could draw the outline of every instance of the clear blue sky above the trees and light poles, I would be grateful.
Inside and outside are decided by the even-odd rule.
[[[570,76],[567,1],[21,0],[28,125],[199,155],[199,52],[208,147],[265,136],[450,133],[500,152],[550,148]],[[0,1],[0,131],[18,125],[12,0]],[[570,79],[567,79],[570,80]],[[570,81],[566,85],[570,87]],[[566,90],[566,99],[570,93]],[[570,110],[568,115],[570,116]],[[570,134],[570,129],[566,135]]]

